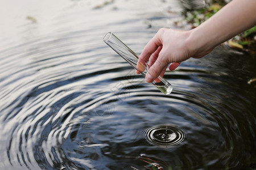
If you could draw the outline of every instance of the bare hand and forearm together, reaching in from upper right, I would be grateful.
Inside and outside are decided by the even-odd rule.
[[[217,45],[256,25],[256,0],[233,0],[210,19],[189,31],[161,28],[142,50],[137,69],[148,61],[146,82],[175,70],[188,58],[201,58]],[[137,71],[137,73],[139,73]]]

